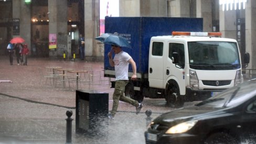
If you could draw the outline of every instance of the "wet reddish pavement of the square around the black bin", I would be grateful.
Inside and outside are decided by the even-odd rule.
[[[15,58],[14,58],[15,60]],[[102,127],[97,135],[76,134],[76,91],[74,87],[52,87],[48,82],[40,84],[38,68],[60,66],[81,70],[92,66],[103,70],[103,62],[63,61],[63,59],[28,58],[28,65],[10,65],[7,56],[0,57],[0,143],[66,143],[66,112],[71,110],[72,143],[145,143],[146,110],[152,110],[152,118],[173,110],[164,99],[145,98],[140,114],[135,107],[120,102],[114,121]],[[83,89],[88,89],[84,87]],[[112,109],[113,89],[108,79],[90,89],[109,93],[109,110]],[[103,132],[104,131],[104,132]]]

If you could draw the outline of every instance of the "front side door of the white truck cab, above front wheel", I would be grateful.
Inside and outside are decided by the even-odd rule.
[[[173,64],[173,52],[178,53],[178,64]],[[179,86],[180,94],[185,94],[185,48],[183,43],[170,42],[166,58],[165,79],[174,79]]]

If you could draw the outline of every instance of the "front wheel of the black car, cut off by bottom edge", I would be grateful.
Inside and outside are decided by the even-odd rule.
[[[237,139],[233,138],[227,133],[215,133],[210,135],[205,144],[213,144],[213,143],[239,143]]]

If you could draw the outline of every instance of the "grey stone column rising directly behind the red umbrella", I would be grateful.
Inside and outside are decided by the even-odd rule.
[[[19,19],[19,35],[13,35],[14,37],[19,36],[25,39],[25,43],[28,44],[29,50],[31,51],[31,4],[26,5],[25,1],[13,1],[13,18]]]

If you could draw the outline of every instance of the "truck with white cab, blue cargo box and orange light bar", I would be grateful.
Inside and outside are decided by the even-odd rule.
[[[173,31],[187,31],[193,37],[182,32],[172,36]],[[220,33],[198,32],[202,32],[202,18],[106,17],[105,33],[121,35],[130,42],[132,49],[122,49],[137,66],[137,79],[129,80],[125,95],[139,102],[144,97],[164,98],[168,105],[180,107],[185,101],[205,100],[241,83],[237,41],[220,38]],[[115,77],[114,67],[109,65],[110,50],[106,44],[104,74]],[[248,64],[249,55],[244,57]]]

